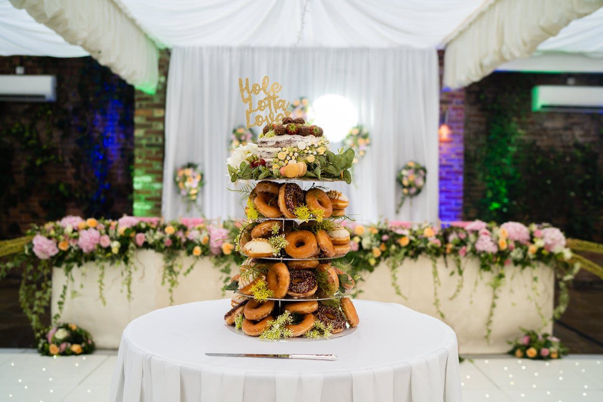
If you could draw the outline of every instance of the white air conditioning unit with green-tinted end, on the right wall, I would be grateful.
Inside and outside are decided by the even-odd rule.
[[[539,85],[532,89],[532,111],[603,113],[603,87]]]

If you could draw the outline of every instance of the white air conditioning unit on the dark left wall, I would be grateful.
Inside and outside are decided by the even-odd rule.
[[[0,101],[54,102],[56,95],[54,75],[0,75]]]

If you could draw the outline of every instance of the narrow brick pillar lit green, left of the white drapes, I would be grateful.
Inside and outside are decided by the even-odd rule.
[[[135,216],[161,216],[163,136],[169,52],[159,58],[159,85],[155,95],[136,91],[134,116]]]

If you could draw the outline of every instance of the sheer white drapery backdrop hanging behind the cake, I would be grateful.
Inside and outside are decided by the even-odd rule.
[[[326,48],[174,48],[166,99],[162,213],[167,219],[187,212],[177,194],[174,171],[199,163],[206,185],[201,206],[207,218],[243,215],[241,196],[226,173],[227,146],[233,128],[245,124],[238,78],[251,83],[268,75],[292,101],[314,101],[333,93],[358,109],[371,146],[353,172],[353,183],[329,187],[350,197],[348,214],[359,221],[438,218],[438,58],[435,49]],[[257,132],[257,128],[254,127]],[[328,137],[329,133],[326,133]],[[396,214],[401,190],[396,174],[409,160],[428,171],[423,192]]]

